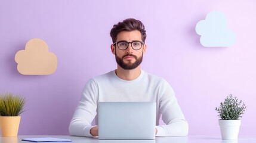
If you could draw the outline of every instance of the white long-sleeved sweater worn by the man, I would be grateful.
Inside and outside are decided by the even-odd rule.
[[[171,86],[166,80],[141,70],[135,80],[123,80],[115,70],[90,79],[84,87],[81,100],[69,125],[74,136],[92,136],[92,120],[97,124],[97,104],[107,101],[156,102],[156,136],[186,136],[189,126]],[[159,125],[159,119],[166,125]]]

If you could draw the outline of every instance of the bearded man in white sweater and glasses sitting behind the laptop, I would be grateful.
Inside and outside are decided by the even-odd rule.
[[[164,79],[141,70],[147,49],[143,23],[133,18],[124,20],[113,26],[110,36],[117,69],[87,82],[69,125],[70,135],[98,135],[98,126],[91,126],[97,116],[98,102],[154,101],[156,136],[186,136],[189,127],[171,86]],[[161,114],[166,125],[159,125]]]

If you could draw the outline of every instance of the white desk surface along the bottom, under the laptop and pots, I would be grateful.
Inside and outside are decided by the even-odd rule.
[[[256,136],[243,136],[238,140],[222,140],[220,137],[211,136],[183,136],[183,137],[157,137],[155,140],[100,140],[79,136],[54,136],[54,135],[23,135],[18,137],[0,137],[1,143],[20,143],[23,138],[64,138],[71,139],[72,143],[255,143]],[[29,142],[27,142],[29,143]]]

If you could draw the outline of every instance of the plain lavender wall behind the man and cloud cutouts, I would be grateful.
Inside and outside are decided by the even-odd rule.
[[[220,135],[214,110],[232,93],[248,109],[240,135],[255,135],[256,2],[0,0],[0,92],[27,98],[19,135],[68,135],[82,88],[92,76],[116,68],[110,52],[113,24],[138,18],[146,26],[143,69],[174,88],[190,135]],[[236,32],[232,47],[205,48],[196,23],[221,11]],[[29,39],[41,38],[58,57],[50,76],[24,76],[14,56]]]

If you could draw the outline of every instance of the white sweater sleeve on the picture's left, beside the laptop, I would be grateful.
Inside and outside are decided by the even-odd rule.
[[[69,124],[69,134],[92,137],[91,122],[97,114],[98,88],[94,80],[89,80],[82,91],[73,118]]]

